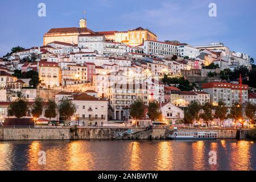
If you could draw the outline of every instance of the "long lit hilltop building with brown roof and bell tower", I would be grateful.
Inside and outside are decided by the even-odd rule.
[[[44,34],[44,46],[55,41],[78,44],[79,35],[95,34],[95,32],[86,27],[86,19],[80,19],[79,24],[80,28],[52,28]]]

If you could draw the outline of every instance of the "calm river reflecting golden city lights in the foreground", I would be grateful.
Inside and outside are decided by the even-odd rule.
[[[46,151],[46,165],[38,153]],[[209,164],[209,152],[217,164]],[[79,140],[0,142],[0,170],[255,170],[256,142]]]

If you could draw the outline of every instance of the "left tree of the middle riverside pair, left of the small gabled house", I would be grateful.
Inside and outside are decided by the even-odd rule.
[[[130,105],[130,115],[135,119],[141,119],[144,116],[144,104],[142,100],[137,100]]]

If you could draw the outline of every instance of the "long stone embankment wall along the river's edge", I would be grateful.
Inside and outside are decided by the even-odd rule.
[[[247,130],[199,130],[213,131],[220,139],[245,139]],[[72,140],[72,139],[168,139],[171,129],[128,129],[128,128],[0,128],[0,140]]]

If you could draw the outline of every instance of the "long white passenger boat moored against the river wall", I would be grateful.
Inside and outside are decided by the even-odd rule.
[[[169,135],[169,138],[174,140],[214,140],[218,138],[217,132],[212,131],[175,131]]]

